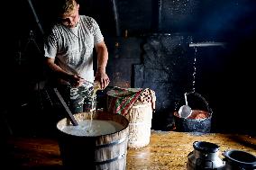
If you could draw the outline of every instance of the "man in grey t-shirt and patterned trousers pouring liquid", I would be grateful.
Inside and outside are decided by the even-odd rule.
[[[109,84],[105,73],[108,51],[96,21],[78,13],[76,0],[59,0],[59,22],[54,24],[44,43],[46,64],[58,79],[59,92],[73,113],[85,112],[94,99],[93,82],[101,89]],[[97,70],[94,76],[93,49]],[[93,106],[92,106],[93,107]],[[93,109],[93,108],[92,108]]]

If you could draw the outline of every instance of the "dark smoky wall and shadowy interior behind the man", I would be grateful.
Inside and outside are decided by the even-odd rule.
[[[3,4],[8,10],[2,15],[1,54],[5,133],[49,133],[46,127],[54,127],[59,119],[49,107],[54,103],[50,91],[43,88],[47,76],[42,64],[43,35],[54,22],[55,2]],[[79,0],[79,4],[80,14],[94,17],[105,36],[110,85],[156,92],[152,129],[171,130],[172,113],[184,103],[184,93],[194,88],[213,110],[213,132],[255,135],[254,0]],[[224,46],[189,46],[199,42]],[[103,106],[110,89],[98,94]]]

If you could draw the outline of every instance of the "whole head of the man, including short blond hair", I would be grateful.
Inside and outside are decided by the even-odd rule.
[[[79,20],[79,4],[76,0],[59,0],[58,17],[60,22],[69,28],[74,28]]]

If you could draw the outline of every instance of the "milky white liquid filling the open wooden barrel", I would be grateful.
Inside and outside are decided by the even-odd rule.
[[[75,136],[100,136],[123,130],[123,125],[115,121],[84,120],[78,126],[66,126],[63,132]]]

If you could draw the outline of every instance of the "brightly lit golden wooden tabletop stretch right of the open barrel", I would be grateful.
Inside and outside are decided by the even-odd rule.
[[[145,148],[129,150],[127,169],[187,169],[187,155],[194,141],[208,141],[220,147],[220,157],[227,149],[240,149],[256,155],[256,138],[246,135],[151,131],[151,142]]]

